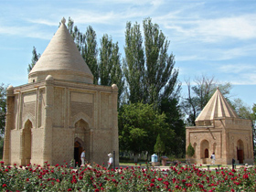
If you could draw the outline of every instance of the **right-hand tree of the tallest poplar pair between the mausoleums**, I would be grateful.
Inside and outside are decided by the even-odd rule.
[[[144,19],[145,80],[147,103],[160,103],[176,91],[175,56],[168,54],[170,41],[151,18]]]

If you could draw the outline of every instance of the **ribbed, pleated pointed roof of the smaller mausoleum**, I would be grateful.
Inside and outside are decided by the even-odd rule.
[[[237,113],[229,105],[229,102],[223,97],[219,89],[217,89],[203,111],[197,116],[196,122],[224,117],[239,118]]]

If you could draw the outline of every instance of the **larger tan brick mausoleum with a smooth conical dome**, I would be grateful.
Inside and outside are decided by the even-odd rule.
[[[63,18],[28,83],[7,89],[5,165],[80,163],[82,149],[98,164],[115,151],[118,165],[118,88],[92,83]]]

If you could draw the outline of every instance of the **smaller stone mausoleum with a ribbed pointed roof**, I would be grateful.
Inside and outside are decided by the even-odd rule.
[[[196,126],[186,129],[186,149],[192,144],[195,155],[190,163],[210,164],[210,155],[216,155],[216,164],[228,165],[232,159],[240,164],[253,164],[251,121],[240,119],[219,89],[197,117]]]

